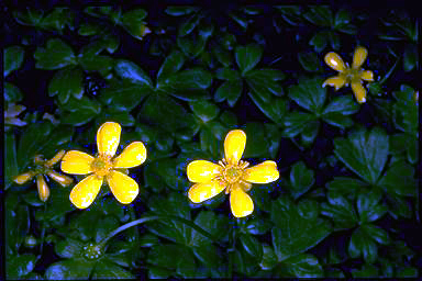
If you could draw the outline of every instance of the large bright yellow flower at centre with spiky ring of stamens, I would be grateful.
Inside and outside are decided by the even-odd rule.
[[[252,168],[242,161],[246,134],[241,130],[229,132],[224,139],[224,159],[218,164],[207,160],[191,161],[187,175],[195,184],[189,189],[189,199],[193,203],[213,198],[225,189],[230,193],[230,206],[235,217],[244,217],[254,211],[254,203],[246,193],[252,183],[268,183],[278,179],[275,161],[264,161]]]

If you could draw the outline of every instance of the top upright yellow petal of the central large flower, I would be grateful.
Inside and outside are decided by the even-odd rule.
[[[225,160],[229,164],[237,165],[242,158],[246,145],[246,134],[242,130],[233,130],[227,133],[224,139]]]

